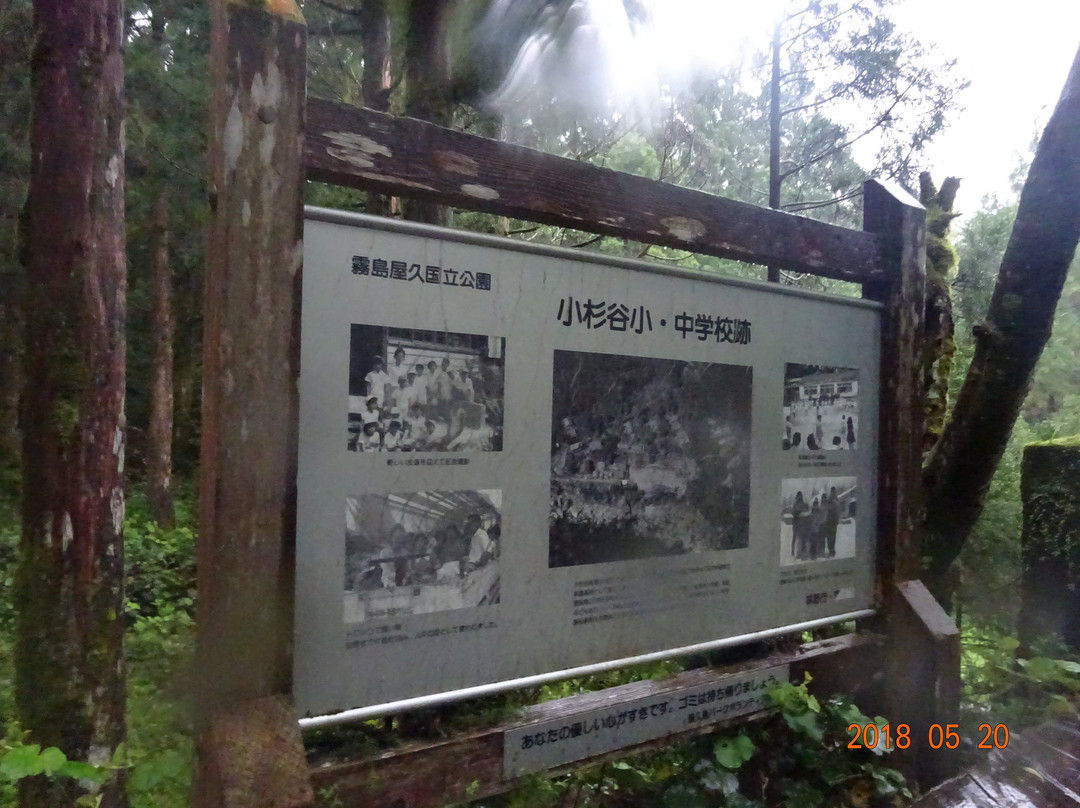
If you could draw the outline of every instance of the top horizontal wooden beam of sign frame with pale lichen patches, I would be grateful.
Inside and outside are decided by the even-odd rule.
[[[875,233],[320,98],[305,162],[335,185],[853,283],[886,277]]]

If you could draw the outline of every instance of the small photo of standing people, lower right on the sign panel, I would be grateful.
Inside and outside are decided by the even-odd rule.
[[[855,477],[783,480],[780,565],[855,555]]]

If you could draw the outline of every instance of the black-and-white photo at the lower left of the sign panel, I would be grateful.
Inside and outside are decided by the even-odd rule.
[[[346,499],[345,622],[499,603],[502,491]]]

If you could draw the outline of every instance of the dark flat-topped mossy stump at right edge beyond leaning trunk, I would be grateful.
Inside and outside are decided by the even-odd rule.
[[[1080,648],[1080,435],[1025,447],[1020,491],[1021,652],[1049,634]]]

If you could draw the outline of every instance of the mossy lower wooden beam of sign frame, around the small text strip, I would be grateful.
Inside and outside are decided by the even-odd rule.
[[[801,682],[805,672],[813,676],[819,693],[848,692],[855,698],[876,687],[881,637],[873,634],[848,634],[834,639],[808,643],[795,651],[777,652],[753,662],[727,669],[698,669],[664,679],[635,682],[608,688],[599,693],[582,693],[567,699],[543,702],[527,708],[518,719],[446,741],[418,743],[384,752],[368,760],[326,765],[311,762],[311,784],[316,792],[333,790],[347,808],[437,808],[449,803],[477,799],[514,789],[523,778],[503,779],[503,739],[507,732],[523,724],[537,724],[549,718],[580,712],[595,706],[602,699],[613,705],[639,698],[646,692],[662,696],[686,687],[703,687],[719,682],[734,672],[752,673],[777,665],[791,665],[792,679]],[[652,752],[673,741],[688,740],[728,726],[756,721],[770,711],[758,711],[727,722],[686,729],[635,746],[608,752],[584,760],[552,769],[549,777],[565,775],[586,766],[619,759],[633,754]]]

